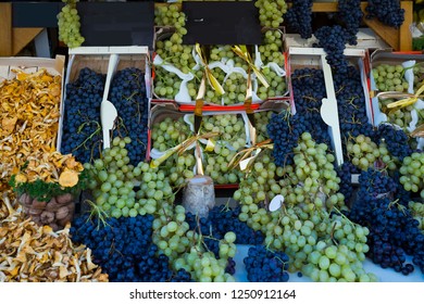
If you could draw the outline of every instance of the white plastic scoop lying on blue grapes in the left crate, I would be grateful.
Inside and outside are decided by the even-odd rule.
[[[111,130],[113,129],[114,122],[117,117],[116,107],[112,102],[108,100],[109,89],[111,86],[113,74],[115,73],[119,62],[117,54],[111,54],[109,58],[108,75],[104,84],[103,100],[100,106],[100,119],[103,130],[103,149],[111,147]]]

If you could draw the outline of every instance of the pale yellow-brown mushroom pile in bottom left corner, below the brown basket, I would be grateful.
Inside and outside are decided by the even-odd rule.
[[[0,198],[0,282],[107,282],[91,251],[75,246],[70,226],[53,231],[24,219],[12,192]]]

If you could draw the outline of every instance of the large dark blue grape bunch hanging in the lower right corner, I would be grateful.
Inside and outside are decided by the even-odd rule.
[[[414,268],[404,264],[406,255],[423,271],[424,235],[409,210],[397,195],[396,179],[386,174],[369,169],[362,172],[360,188],[348,217],[370,230],[367,244],[369,257],[383,268],[392,268],[403,275]]]

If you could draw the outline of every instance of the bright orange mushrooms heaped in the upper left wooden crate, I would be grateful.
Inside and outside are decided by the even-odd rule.
[[[30,155],[55,151],[59,128],[62,77],[46,69],[13,72],[14,79],[0,83],[0,185]]]

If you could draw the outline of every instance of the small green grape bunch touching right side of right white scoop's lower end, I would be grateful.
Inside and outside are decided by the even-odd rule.
[[[396,159],[390,156],[384,142],[377,145],[371,138],[359,135],[348,140],[346,149],[351,163],[362,170],[374,167],[376,161],[383,162],[390,170],[396,169]]]

